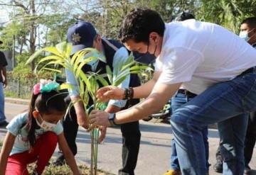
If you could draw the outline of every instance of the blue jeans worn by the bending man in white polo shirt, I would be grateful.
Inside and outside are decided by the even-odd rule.
[[[202,130],[207,125],[220,123],[219,131],[223,142],[221,152],[225,152],[223,174],[242,175],[243,140],[247,118],[239,116],[256,111],[255,103],[256,74],[247,73],[231,81],[211,86],[178,108],[171,117],[171,126],[182,174],[205,175],[207,173]],[[238,118],[242,122],[233,125],[232,120]],[[235,166],[230,166],[230,160]]]

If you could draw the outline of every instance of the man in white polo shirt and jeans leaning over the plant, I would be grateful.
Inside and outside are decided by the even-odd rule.
[[[256,74],[252,69],[256,50],[221,26],[193,20],[165,24],[159,13],[150,9],[131,11],[124,18],[119,38],[129,50],[141,54],[141,62],[156,60],[156,72],[153,79],[134,89],[100,89],[97,96],[101,101],[146,99],[115,114],[92,111],[90,122],[110,125],[142,119],[159,111],[182,84],[198,96],[171,117],[178,162],[183,175],[205,175],[201,130],[212,123],[230,125],[234,116],[256,111]],[[224,147],[236,160],[235,166],[224,162],[223,174],[243,174],[244,164],[238,159],[243,161],[245,130],[237,130],[241,123],[237,124],[233,130],[220,130],[220,137],[224,132],[230,135],[227,142],[223,140]]]

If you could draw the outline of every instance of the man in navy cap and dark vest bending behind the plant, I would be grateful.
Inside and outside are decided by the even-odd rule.
[[[77,22],[68,28],[68,42],[73,43],[72,55],[78,50],[82,50],[86,47],[93,47],[102,53],[102,57],[105,57],[105,62],[101,60],[96,60],[85,64],[82,67],[83,72],[100,72],[100,74],[106,74],[106,66],[108,65],[112,72],[115,69],[115,65],[120,62],[127,60],[129,57],[126,48],[115,40],[109,40],[102,38],[88,22]],[[78,94],[78,84],[76,83],[73,73],[66,70],[67,82],[73,84],[74,89],[69,91],[70,98],[72,101],[77,101],[80,96]],[[135,74],[129,75],[122,84],[119,85],[120,88],[127,88],[129,86],[139,86],[139,77]],[[129,106],[139,103],[139,99],[132,100],[112,100],[107,104],[105,111],[107,113],[115,113]],[[90,103],[92,105],[92,103]],[[75,145],[75,137],[78,132],[78,124],[87,128],[87,121],[85,120],[85,108],[82,106],[81,102],[74,104],[76,116],[72,116],[73,120],[64,120],[64,134],[69,143],[70,148]],[[78,124],[76,123],[76,118]],[[141,133],[139,131],[139,122],[135,121],[132,123],[126,123],[120,125],[122,131],[122,169],[119,169],[119,174],[134,174],[134,169],[137,164],[137,156],[139,153],[139,142]],[[65,132],[66,131],[66,132]],[[72,134],[73,133],[73,134]],[[99,141],[105,138],[106,127],[102,129]],[[72,137],[67,138],[67,137]],[[72,148],[71,148],[72,149]]]

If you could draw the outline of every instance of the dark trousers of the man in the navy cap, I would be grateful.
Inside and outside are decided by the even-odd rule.
[[[70,103],[70,98],[65,99],[66,103]],[[136,102],[136,101],[135,101]],[[131,103],[132,104],[135,103]],[[139,121],[125,123],[120,125],[122,132],[122,169],[119,169],[119,175],[133,175],[137,164],[139,154],[139,143],[141,133],[139,131]],[[75,109],[70,108],[70,113],[63,119],[63,132],[73,154],[77,154],[78,149],[75,138],[78,135],[78,121]],[[60,152],[58,159],[64,159]]]

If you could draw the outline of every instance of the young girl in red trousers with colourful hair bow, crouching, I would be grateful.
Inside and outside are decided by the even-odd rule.
[[[36,84],[28,113],[17,115],[6,126],[8,132],[0,154],[0,175],[27,175],[26,166],[32,162],[36,162],[33,174],[42,174],[57,142],[73,174],[80,174],[60,124],[66,104],[56,91],[58,86],[46,80]]]

